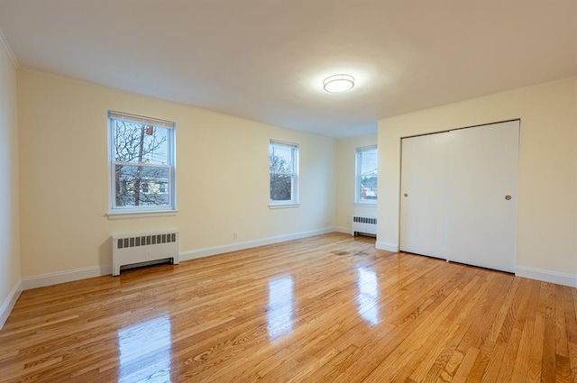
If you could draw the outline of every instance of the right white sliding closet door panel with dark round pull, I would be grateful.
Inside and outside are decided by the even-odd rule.
[[[447,259],[514,272],[519,122],[451,136]]]

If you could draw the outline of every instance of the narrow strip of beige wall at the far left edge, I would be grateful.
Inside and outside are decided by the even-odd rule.
[[[0,306],[20,280],[16,69],[0,44]],[[0,313],[2,314],[2,313]]]

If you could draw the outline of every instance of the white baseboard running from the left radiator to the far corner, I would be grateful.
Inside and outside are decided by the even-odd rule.
[[[321,235],[326,233],[334,233],[338,230],[336,228],[326,228],[319,230],[312,230],[309,232],[292,233],[286,235],[278,235],[274,237],[261,238],[259,240],[235,242],[219,246],[211,246],[191,251],[181,251],[179,252],[179,259],[182,260],[196,260],[198,258],[209,257],[211,255],[223,254],[224,252],[239,251],[245,249],[251,249],[254,247],[270,245],[272,243],[287,242],[293,240],[300,240],[302,238],[312,237],[315,235]],[[346,232],[350,233],[350,232]]]

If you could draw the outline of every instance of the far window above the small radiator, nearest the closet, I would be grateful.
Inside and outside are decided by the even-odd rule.
[[[357,166],[355,180],[355,202],[377,203],[378,151],[376,146],[365,146],[356,150]]]

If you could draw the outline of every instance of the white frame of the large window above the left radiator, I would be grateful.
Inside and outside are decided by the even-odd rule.
[[[164,128],[168,130],[167,134],[167,164],[157,165],[143,162],[118,162],[115,158],[114,145],[114,121],[122,120],[130,123],[142,123],[151,125],[154,128]],[[138,166],[141,164],[147,168],[166,168],[169,169],[169,179],[167,183],[167,191],[169,203],[167,205],[142,205],[142,206],[117,206],[116,205],[116,179],[115,169],[116,165]],[[162,214],[173,213],[177,211],[177,172],[176,172],[176,124],[171,121],[160,120],[151,117],[144,117],[137,114],[127,114],[122,112],[108,111],[108,215],[114,216],[116,214]],[[148,186],[150,188],[150,185]]]

